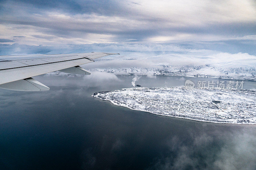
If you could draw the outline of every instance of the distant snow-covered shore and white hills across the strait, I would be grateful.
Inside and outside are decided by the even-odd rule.
[[[212,55],[165,54],[152,57],[108,57],[93,69],[114,74],[169,75],[256,80],[256,56],[247,53]],[[90,65],[86,65],[86,67]]]

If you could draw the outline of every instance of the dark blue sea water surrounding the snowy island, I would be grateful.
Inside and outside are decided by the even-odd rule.
[[[256,169],[256,125],[154,115],[91,97],[130,88],[133,77],[48,74],[35,79],[50,91],[0,89],[0,169]],[[136,84],[186,79],[208,81],[142,76]]]

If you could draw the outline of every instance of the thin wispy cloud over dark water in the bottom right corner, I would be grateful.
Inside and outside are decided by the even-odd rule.
[[[236,128],[227,134],[220,129],[190,132],[189,143],[173,136],[167,141],[169,155],[156,158],[148,169],[255,169],[256,138],[252,130]]]

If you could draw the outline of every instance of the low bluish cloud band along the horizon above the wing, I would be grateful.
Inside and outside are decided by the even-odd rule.
[[[45,36],[45,35],[44,35]],[[43,37],[42,37],[43,38]],[[46,38],[46,37],[45,37]],[[24,45],[24,44],[0,44],[0,55],[23,55],[23,54],[67,54],[67,53],[83,53],[83,52],[116,52],[122,55],[131,54],[129,56],[144,56],[142,53],[147,53],[147,56],[166,54],[167,52],[191,52],[208,54],[213,53],[212,50],[204,49],[189,49],[180,47],[176,44],[161,44],[161,43],[93,43],[93,44],[76,44],[65,46],[43,46],[43,45]],[[214,52],[215,53],[215,52]]]

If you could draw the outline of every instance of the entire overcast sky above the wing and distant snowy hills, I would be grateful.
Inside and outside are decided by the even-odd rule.
[[[254,0],[0,1],[0,55],[90,50],[256,55],[255,45]]]

